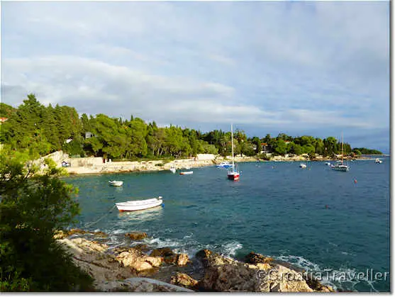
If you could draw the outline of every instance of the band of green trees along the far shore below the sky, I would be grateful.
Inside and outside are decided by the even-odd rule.
[[[194,157],[197,154],[230,155],[230,132],[199,130],[170,125],[158,127],[155,121],[145,123],[141,118],[130,120],[82,114],[69,106],[44,106],[34,94],[13,108],[0,103],[0,116],[8,118],[0,129],[0,142],[11,150],[28,150],[35,155],[48,155],[64,150],[74,157],[107,157],[113,160],[162,159]],[[279,133],[272,138],[247,138],[243,130],[234,133],[236,155],[265,157],[272,155],[323,155],[333,157],[341,152],[341,143],[334,137],[291,137]],[[345,155],[381,152],[365,148],[352,149],[343,143]]]

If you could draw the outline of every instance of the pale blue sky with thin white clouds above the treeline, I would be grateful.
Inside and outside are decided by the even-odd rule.
[[[389,1],[2,1],[1,102],[389,153]]]

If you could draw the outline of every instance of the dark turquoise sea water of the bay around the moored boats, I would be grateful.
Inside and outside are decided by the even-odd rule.
[[[193,256],[202,248],[242,259],[254,251],[291,262],[323,283],[352,291],[389,291],[390,159],[349,162],[335,172],[324,162],[240,163],[240,181],[226,170],[69,176],[79,187],[78,228],[111,235],[143,231],[152,247]],[[124,181],[111,187],[110,179]],[[163,196],[164,205],[118,213],[114,203]],[[381,273],[381,276],[380,276]],[[384,274],[386,273],[386,274]]]

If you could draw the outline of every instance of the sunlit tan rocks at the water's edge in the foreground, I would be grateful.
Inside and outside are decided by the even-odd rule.
[[[126,233],[125,237],[133,247],[110,247],[104,232],[72,229],[55,235],[74,263],[93,277],[96,291],[334,291],[290,265],[255,252],[247,254],[244,262],[210,250],[200,250],[190,259],[169,247],[152,250],[141,241],[148,237],[144,232]]]

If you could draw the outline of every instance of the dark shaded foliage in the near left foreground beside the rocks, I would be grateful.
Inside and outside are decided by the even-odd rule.
[[[90,276],[54,240],[79,211],[52,160],[37,174],[28,154],[0,153],[0,291],[91,290]],[[26,164],[29,164],[26,167]]]

